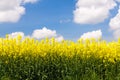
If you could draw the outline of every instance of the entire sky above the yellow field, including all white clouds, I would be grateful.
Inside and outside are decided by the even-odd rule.
[[[120,37],[120,0],[0,0],[0,36]]]

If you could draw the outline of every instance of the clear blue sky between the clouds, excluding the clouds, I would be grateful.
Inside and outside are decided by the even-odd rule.
[[[63,36],[64,39],[73,41],[79,39],[84,33],[97,30],[101,30],[103,39],[113,40],[115,31],[110,29],[109,23],[118,14],[119,0],[116,2],[117,6],[109,10],[109,16],[104,21],[95,24],[74,21],[73,12],[76,10],[78,2],[80,0],[38,0],[34,3],[20,4],[25,8],[25,13],[16,22],[0,22],[0,36],[4,37],[5,34],[14,32],[31,35],[34,30],[46,27],[49,30],[55,30],[56,34]],[[14,17],[14,15],[11,16]]]

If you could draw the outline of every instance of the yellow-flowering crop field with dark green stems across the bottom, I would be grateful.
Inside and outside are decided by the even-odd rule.
[[[0,80],[120,80],[120,40],[0,38]]]

